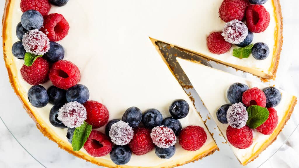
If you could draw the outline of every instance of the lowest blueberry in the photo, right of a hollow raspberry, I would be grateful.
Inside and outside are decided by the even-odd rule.
[[[132,152],[127,145],[116,145],[112,147],[112,151],[109,153],[109,155],[113,163],[117,165],[124,165],[130,161]]]

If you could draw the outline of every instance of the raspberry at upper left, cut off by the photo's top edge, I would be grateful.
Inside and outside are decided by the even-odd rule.
[[[42,16],[48,15],[51,8],[48,0],[21,0],[20,7],[22,12],[33,9],[39,11]]]

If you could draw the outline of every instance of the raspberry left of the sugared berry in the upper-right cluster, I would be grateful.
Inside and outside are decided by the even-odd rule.
[[[226,42],[221,35],[222,32],[213,32],[207,38],[208,49],[214,54],[223,54],[229,51],[231,43]]]

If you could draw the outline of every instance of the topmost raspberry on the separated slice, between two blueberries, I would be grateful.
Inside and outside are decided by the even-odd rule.
[[[266,107],[267,98],[259,88],[251,88],[243,93],[242,102],[247,107],[252,105]]]

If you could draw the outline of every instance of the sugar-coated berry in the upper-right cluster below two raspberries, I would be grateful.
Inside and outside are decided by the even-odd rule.
[[[237,19],[227,22],[222,31],[225,41],[231,44],[239,44],[246,39],[247,35],[247,26]]]

